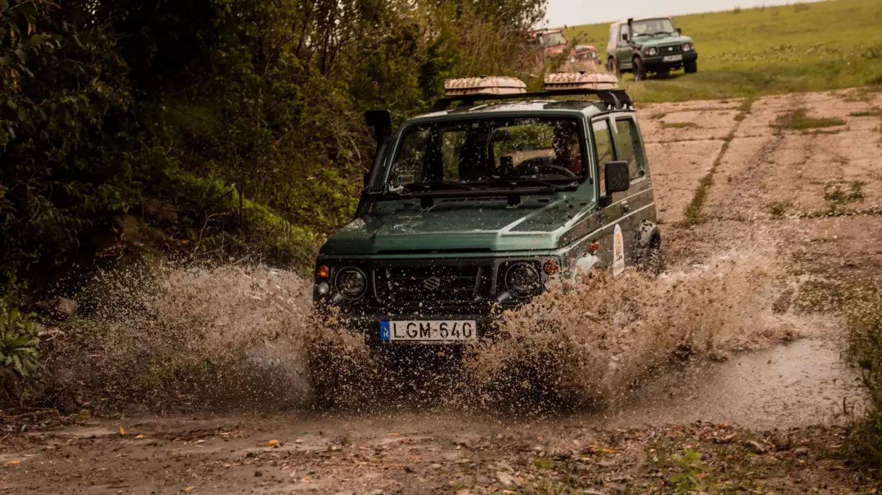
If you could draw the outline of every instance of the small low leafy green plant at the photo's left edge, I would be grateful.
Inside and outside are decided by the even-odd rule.
[[[10,366],[21,376],[40,367],[37,354],[37,324],[31,314],[21,314],[15,307],[0,303],[0,364]]]

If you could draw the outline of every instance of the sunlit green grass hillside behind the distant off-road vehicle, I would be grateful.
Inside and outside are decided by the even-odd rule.
[[[615,19],[610,19],[610,21]],[[699,72],[629,79],[639,101],[750,97],[882,85],[882,0],[828,0],[676,16],[699,51]],[[609,23],[572,26],[572,41],[606,60]]]

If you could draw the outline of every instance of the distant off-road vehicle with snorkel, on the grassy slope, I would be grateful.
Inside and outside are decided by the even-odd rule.
[[[699,70],[699,54],[670,18],[629,18],[609,26],[607,69],[613,74],[632,72],[642,80],[648,72],[667,75],[683,68]]]

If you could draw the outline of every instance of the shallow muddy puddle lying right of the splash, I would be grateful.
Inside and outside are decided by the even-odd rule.
[[[616,410],[589,418],[613,428],[700,420],[767,430],[834,425],[843,412],[860,413],[867,399],[838,343],[802,339],[671,368],[635,388]]]

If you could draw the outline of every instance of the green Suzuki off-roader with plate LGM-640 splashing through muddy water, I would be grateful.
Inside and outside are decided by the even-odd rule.
[[[368,112],[377,155],[356,218],[318,255],[316,306],[339,308],[370,343],[462,344],[549,277],[657,269],[637,118],[627,93],[596,89],[604,77],[616,81],[552,74],[534,93],[466,79],[394,132],[388,112]]]

